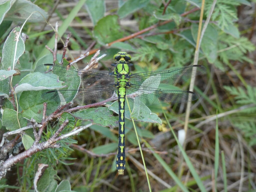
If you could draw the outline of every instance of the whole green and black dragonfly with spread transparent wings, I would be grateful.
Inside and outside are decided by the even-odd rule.
[[[66,80],[79,76],[81,82],[77,82],[80,88],[61,89],[48,91],[42,94],[46,100],[59,102],[76,102],[93,104],[105,101],[111,97],[118,98],[119,105],[119,142],[116,156],[116,169],[119,175],[125,170],[125,101],[129,98],[138,105],[157,105],[163,103],[190,102],[198,99],[198,95],[191,91],[168,90],[159,87],[176,84],[193,78],[206,71],[201,65],[191,65],[174,70],[148,71],[131,74],[133,66],[131,55],[120,51],[113,57],[115,63],[112,72],[82,70],[61,65],[44,64],[38,67],[38,71],[50,77],[56,72],[63,72]],[[146,83],[145,83],[146,82]],[[80,84],[81,83],[81,84]],[[75,92],[75,96],[74,96]]]

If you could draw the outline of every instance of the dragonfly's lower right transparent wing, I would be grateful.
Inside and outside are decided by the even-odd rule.
[[[191,91],[168,90],[131,86],[127,89],[127,96],[139,105],[157,105],[162,103],[182,103],[198,99],[198,95]]]

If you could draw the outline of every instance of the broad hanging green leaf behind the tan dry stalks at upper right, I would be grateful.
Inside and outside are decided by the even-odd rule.
[[[191,32],[194,38],[194,41],[197,40],[197,31],[198,25],[193,23],[191,25]],[[201,42],[201,49],[204,52],[209,63],[214,63],[217,59],[217,51],[218,51],[218,32],[217,30],[209,24],[205,30],[204,37],[202,38]]]

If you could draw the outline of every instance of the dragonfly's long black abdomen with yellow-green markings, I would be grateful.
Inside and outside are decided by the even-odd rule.
[[[124,106],[125,106],[125,94],[126,88],[119,87],[118,93],[118,104],[119,104],[119,136],[118,136],[118,151],[116,157],[116,169],[119,175],[124,174],[125,169],[125,126],[124,126]]]

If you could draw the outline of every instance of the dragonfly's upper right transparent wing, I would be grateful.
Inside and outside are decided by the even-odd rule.
[[[206,68],[201,65],[192,65],[187,67],[178,68],[175,70],[164,70],[164,71],[149,71],[135,73],[131,75],[130,82],[134,85],[141,85],[147,78],[151,78],[152,84],[158,82],[160,75],[161,80],[159,87],[175,84],[190,78],[193,78],[206,71]],[[152,77],[153,76],[153,77]],[[153,86],[150,86],[153,87]]]

